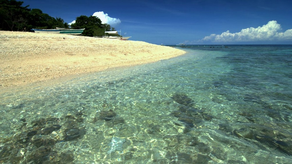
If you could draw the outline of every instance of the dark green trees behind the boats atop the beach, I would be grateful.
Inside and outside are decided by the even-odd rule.
[[[55,29],[69,28],[68,23],[60,17],[51,17],[40,9],[30,9],[22,6],[22,1],[0,0],[0,30],[6,31],[30,31],[30,29]],[[95,16],[81,15],[76,22],[71,24],[72,28],[85,28],[84,36],[102,36],[106,31],[114,31],[109,24],[102,24]]]

